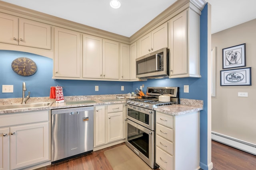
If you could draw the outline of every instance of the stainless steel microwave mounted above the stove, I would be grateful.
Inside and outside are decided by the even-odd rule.
[[[169,49],[163,48],[136,59],[136,78],[169,76]]]

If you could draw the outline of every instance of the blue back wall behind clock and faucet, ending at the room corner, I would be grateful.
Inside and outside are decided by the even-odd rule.
[[[11,63],[18,57],[28,57],[35,61],[38,67],[36,73],[32,76],[16,74],[11,68]],[[64,86],[64,96],[126,94],[132,92],[132,82],[53,80],[52,59],[40,55],[0,50],[0,59],[0,98],[21,98],[22,82],[26,82],[27,91],[31,92],[30,97],[47,97],[50,94],[50,86],[57,85]],[[2,85],[14,85],[14,92],[2,93]],[[95,91],[95,86],[99,86],[99,91]],[[121,86],[124,86],[124,91],[121,91]]]

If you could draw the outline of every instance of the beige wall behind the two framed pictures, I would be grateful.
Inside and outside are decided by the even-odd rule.
[[[252,86],[220,86],[222,49],[242,43],[246,43],[246,67],[252,67]],[[256,19],[212,34],[212,47],[216,47],[212,131],[256,144]],[[248,97],[238,97],[238,92],[248,92]]]

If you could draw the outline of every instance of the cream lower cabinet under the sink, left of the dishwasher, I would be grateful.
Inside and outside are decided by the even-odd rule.
[[[50,164],[49,127],[49,111],[0,115],[0,170]]]

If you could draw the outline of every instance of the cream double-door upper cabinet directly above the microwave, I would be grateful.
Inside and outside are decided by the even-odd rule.
[[[168,23],[164,23],[138,40],[138,57],[168,47]]]

